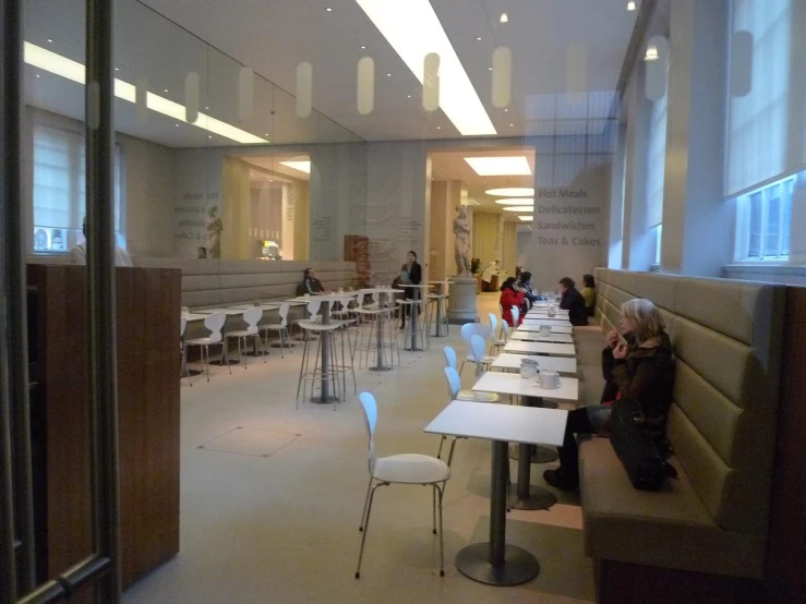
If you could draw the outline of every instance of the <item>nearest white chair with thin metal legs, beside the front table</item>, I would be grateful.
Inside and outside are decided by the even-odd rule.
[[[440,577],[445,577],[445,552],[442,530],[442,498],[445,492],[445,483],[450,478],[450,468],[443,460],[430,455],[400,454],[388,457],[377,457],[375,451],[375,425],[377,424],[377,403],[375,397],[370,392],[361,392],[361,408],[364,413],[366,432],[370,437],[369,468],[370,483],[366,485],[366,497],[364,498],[364,510],[361,514],[361,549],[358,554],[358,567],[356,579],[361,577],[361,560],[364,556],[364,544],[370,528],[370,514],[375,490],[378,486],[390,484],[421,484],[432,486],[434,490],[432,502],[433,532],[437,534],[436,516],[440,516]]]

